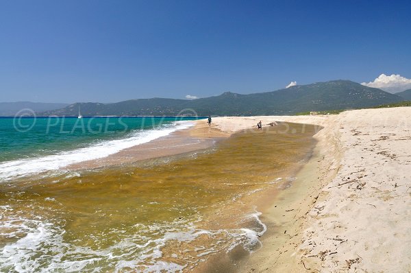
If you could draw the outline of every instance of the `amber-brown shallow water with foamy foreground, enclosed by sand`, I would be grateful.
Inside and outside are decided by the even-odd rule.
[[[3,183],[1,271],[180,271],[256,250],[256,196],[293,179],[315,130],[280,123],[190,154]]]

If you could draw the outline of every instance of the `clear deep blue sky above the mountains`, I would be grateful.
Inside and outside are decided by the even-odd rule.
[[[410,10],[411,1],[0,1],[0,102],[408,80]]]

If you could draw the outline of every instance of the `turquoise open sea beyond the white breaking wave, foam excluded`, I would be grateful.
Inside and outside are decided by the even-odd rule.
[[[55,154],[96,141],[121,139],[136,130],[159,128],[196,117],[0,118],[0,162]]]

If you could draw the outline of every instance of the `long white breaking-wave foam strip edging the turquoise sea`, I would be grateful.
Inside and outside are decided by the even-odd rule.
[[[171,132],[186,129],[192,125],[193,123],[190,121],[177,121],[173,126],[162,126],[153,130],[136,131],[126,139],[101,141],[89,147],[69,152],[61,152],[60,154],[4,162],[0,164],[0,180],[5,181],[30,174],[39,174],[44,171],[55,171],[74,163],[103,158],[129,147],[165,137],[171,134]]]

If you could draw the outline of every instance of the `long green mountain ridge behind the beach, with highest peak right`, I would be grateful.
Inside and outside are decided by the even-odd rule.
[[[131,99],[114,104],[79,103],[38,115],[293,115],[303,111],[366,108],[403,101],[402,97],[349,80],[296,85],[266,93],[241,95],[225,92],[202,99]]]

